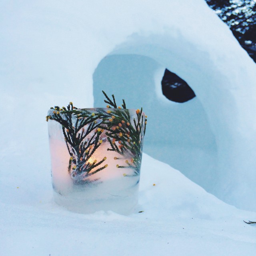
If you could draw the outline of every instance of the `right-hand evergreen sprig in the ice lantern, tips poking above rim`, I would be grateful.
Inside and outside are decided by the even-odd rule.
[[[137,119],[133,118],[133,124],[130,124],[130,113],[129,111],[121,111],[121,107],[117,107],[114,95],[112,100],[107,94],[102,91],[107,100],[104,100],[107,104],[107,108],[111,106],[117,110],[107,111],[109,118],[107,121],[102,122],[106,124],[104,128],[108,130],[106,135],[108,136],[108,142],[111,148],[110,151],[115,151],[118,154],[126,158],[124,165],[116,165],[117,168],[132,168],[134,170],[133,175],[138,175],[140,172],[142,148],[143,148],[143,137],[146,132],[147,116],[144,116],[142,108],[136,110]],[[126,109],[125,101],[122,104],[123,109]],[[111,124],[109,125],[108,122]],[[118,144],[118,145],[116,145]],[[115,158],[118,159],[117,157]],[[127,174],[124,174],[127,176]]]

